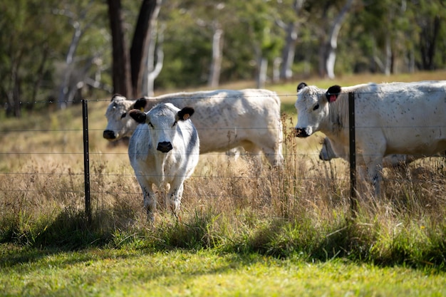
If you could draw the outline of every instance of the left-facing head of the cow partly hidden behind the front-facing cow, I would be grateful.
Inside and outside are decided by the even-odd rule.
[[[105,117],[107,118],[107,127],[103,132],[106,140],[114,141],[122,137],[130,137],[136,129],[136,123],[128,112],[132,109],[144,110],[146,98],[138,100],[127,100],[122,95],[113,95],[108,105]]]

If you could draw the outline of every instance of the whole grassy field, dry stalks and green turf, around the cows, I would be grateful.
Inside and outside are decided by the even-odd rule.
[[[442,78],[445,71],[306,82]],[[284,110],[284,170],[202,155],[180,221],[160,202],[155,228],[127,147],[103,140],[109,98],[88,106],[91,222],[81,106],[1,118],[0,296],[445,296],[445,160],[385,170],[382,199],[361,195],[351,217],[348,164],[318,160],[323,135],[291,133],[297,83],[267,86]]]

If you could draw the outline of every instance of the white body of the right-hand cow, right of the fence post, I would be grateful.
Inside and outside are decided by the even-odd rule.
[[[367,141],[380,137],[375,141],[385,143],[386,155],[446,148],[446,81],[365,87],[355,100],[358,133]]]

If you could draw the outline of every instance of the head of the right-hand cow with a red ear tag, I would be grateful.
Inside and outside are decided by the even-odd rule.
[[[299,83],[294,104],[298,115],[295,128],[297,137],[308,137],[319,130],[321,123],[328,120],[328,104],[335,102],[339,93],[339,85],[324,91],[314,85]]]

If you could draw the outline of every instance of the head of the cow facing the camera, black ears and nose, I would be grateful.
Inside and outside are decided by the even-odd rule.
[[[157,145],[160,152],[170,152],[177,138],[177,124],[190,118],[194,113],[190,107],[177,108],[172,103],[156,105],[149,112],[130,110],[130,117],[138,123],[146,123],[149,126],[152,143]],[[181,141],[177,139],[176,141]]]

